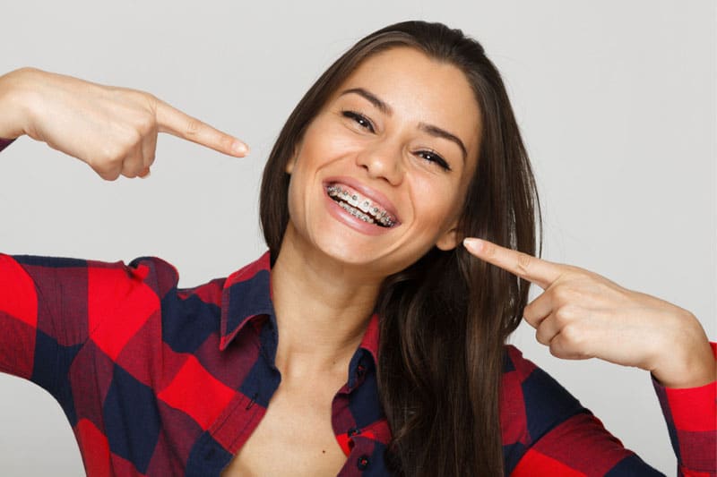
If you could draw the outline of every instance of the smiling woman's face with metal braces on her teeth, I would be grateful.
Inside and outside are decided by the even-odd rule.
[[[479,132],[479,106],[454,65],[410,47],[369,57],[289,160],[287,236],[377,277],[455,247]]]

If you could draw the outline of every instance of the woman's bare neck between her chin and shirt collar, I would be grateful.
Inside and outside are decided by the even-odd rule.
[[[357,277],[321,251],[293,240],[288,227],[272,268],[272,301],[285,378],[345,378],[376,303],[381,280]]]

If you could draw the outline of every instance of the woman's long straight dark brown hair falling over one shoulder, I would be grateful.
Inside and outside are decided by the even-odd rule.
[[[500,74],[483,47],[461,30],[404,21],[359,40],[289,115],[262,181],[260,214],[272,257],[278,256],[289,223],[285,166],[308,124],[358,64],[392,47],[414,47],[454,64],[479,104],[478,166],[462,206],[459,235],[534,255],[540,201]],[[394,473],[503,473],[499,403],[505,340],[523,317],[528,285],[471,257],[462,246],[434,248],[384,280],[376,303],[377,379],[393,434],[386,457]]]

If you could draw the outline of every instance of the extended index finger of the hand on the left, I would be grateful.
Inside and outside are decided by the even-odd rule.
[[[226,132],[214,129],[198,119],[186,115],[177,108],[157,100],[157,124],[160,132],[168,132],[187,141],[193,141],[229,156],[246,156],[249,148],[242,141]]]

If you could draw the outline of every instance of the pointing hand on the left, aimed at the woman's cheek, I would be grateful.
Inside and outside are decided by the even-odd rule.
[[[47,142],[112,181],[149,174],[158,132],[229,154],[246,144],[149,93],[22,68],[0,77],[0,132]]]

